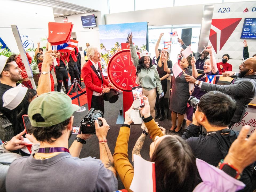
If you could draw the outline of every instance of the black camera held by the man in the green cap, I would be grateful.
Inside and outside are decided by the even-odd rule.
[[[81,123],[81,131],[83,134],[96,134],[95,131],[95,120],[99,121],[99,126],[101,127],[103,125],[103,122],[98,119],[98,117],[103,118],[103,113],[100,110],[94,110],[94,108],[91,108],[88,113],[85,115],[85,117],[82,119]]]

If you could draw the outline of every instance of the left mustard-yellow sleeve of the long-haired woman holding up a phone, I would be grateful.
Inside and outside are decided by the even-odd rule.
[[[133,166],[128,159],[128,142],[130,137],[130,128],[121,127],[117,142],[115,144],[115,153],[113,155],[115,169],[117,170],[125,189],[130,190],[130,185],[133,180]],[[131,191],[132,192],[132,191]]]

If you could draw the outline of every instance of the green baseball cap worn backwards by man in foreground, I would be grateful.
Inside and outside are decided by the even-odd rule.
[[[50,127],[69,119],[74,111],[80,109],[78,105],[72,104],[71,98],[57,91],[51,91],[39,95],[29,104],[28,116],[34,127]],[[40,114],[45,121],[36,122],[32,119],[34,114]]]

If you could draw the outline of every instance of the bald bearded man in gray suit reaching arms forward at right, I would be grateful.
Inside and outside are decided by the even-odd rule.
[[[235,114],[231,120],[230,126],[241,121],[243,118],[248,104],[256,96],[256,58],[251,57],[246,59],[241,65],[239,65],[239,73],[234,71],[226,71],[222,73],[223,76],[230,76],[233,79],[230,85],[215,85],[206,82],[197,82],[201,90],[203,91],[221,91],[226,93],[236,101]],[[186,75],[187,82],[195,83],[195,78]],[[209,101],[210,103],[211,101]]]

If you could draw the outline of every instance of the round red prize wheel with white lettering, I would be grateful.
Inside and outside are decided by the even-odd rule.
[[[139,57],[138,51],[137,54]],[[132,87],[138,86],[135,83],[136,68],[131,60],[130,49],[118,51],[110,58],[107,65],[107,77],[114,87],[121,91],[131,91]]]

